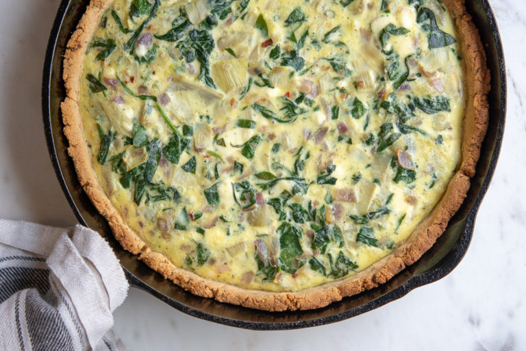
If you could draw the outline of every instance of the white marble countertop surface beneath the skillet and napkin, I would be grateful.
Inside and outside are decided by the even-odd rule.
[[[59,2],[0,0],[0,217],[71,226],[40,112]],[[133,350],[526,350],[526,14],[521,0],[491,3],[508,66],[508,119],[471,247],[449,276],[364,315],[281,332],[205,322],[131,289],[115,313],[123,341]]]

